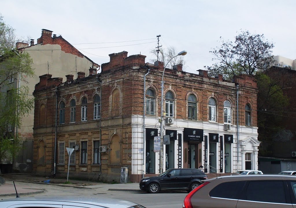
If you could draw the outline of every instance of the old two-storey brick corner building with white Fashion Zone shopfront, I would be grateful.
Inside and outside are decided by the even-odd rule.
[[[36,173],[66,175],[65,148],[76,145],[70,177],[118,181],[120,167],[128,167],[133,182],[142,174],[159,174],[154,137],[160,135],[163,63],[146,64],[145,56],[127,57],[126,51],[109,56],[100,74],[91,68],[88,77],[78,72],[76,80],[67,75],[64,83],[40,76],[33,93]],[[163,146],[164,170],[203,165],[217,175],[258,168],[257,87],[251,76],[226,82],[221,75],[187,73],[176,65],[165,69],[164,80],[163,133],[170,136]]]

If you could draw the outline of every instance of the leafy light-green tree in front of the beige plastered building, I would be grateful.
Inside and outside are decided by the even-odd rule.
[[[6,25],[0,16],[0,162],[12,160],[20,149],[20,138],[15,128],[22,125],[22,117],[34,107],[34,99],[28,97],[25,85],[34,76],[32,59],[25,51],[12,48],[10,39],[14,29]],[[18,86],[16,83],[22,83]],[[1,174],[1,172],[0,172]]]

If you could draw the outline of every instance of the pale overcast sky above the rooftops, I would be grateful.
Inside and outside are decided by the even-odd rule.
[[[41,29],[52,30],[99,65],[121,51],[141,53],[151,62],[149,50],[160,34],[163,48],[188,52],[184,58],[191,73],[213,63],[209,51],[220,46],[220,36],[234,40],[241,29],[264,34],[275,45],[274,55],[296,59],[295,11],[295,0],[2,0],[0,10],[18,37],[30,36],[36,43]]]

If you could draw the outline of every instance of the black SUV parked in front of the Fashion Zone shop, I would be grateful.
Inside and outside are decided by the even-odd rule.
[[[163,189],[186,189],[192,191],[206,180],[207,176],[198,169],[173,168],[159,176],[142,178],[140,189],[156,194]]]

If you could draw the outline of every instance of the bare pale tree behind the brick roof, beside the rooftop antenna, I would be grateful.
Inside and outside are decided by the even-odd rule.
[[[178,54],[178,51],[176,50],[175,47],[169,46],[167,49],[160,48],[159,49],[159,54],[158,54],[158,60],[163,62],[165,65],[168,63],[168,61],[176,56]],[[155,56],[155,59],[151,59],[152,62],[157,61],[157,51],[155,49],[151,49],[150,53]],[[168,68],[172,69],[174,65],[182,64],[183,69],[186,68],[186,61],[184,59],[184,56],[177,56],[173,58],[170,63],[168,64]]]

